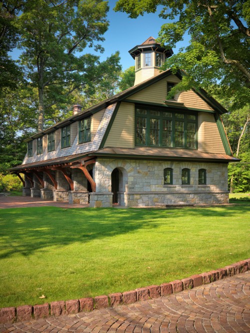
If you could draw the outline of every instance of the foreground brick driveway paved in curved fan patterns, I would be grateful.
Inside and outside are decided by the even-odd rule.
[[[250,272],[209,285],[90,313],[0,324],[2,332],[250,332]]]

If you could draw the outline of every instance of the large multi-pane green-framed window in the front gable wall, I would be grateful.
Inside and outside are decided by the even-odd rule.
[[[197,148],[195,114],[166,112],[162,109],[135,109],[135,145]]]

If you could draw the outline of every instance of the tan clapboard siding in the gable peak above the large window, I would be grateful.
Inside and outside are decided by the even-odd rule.
[[[131,95],[129,99],[164,104],[166,100],[166,82],[179,82],[179,79],[175,75],[169,75],[143,90]],[[184,106],[190,108],[213,110],[206,102],[203,101],[195,92],[192,90],[182,91],[175,96],[177,102],[184,103]]]

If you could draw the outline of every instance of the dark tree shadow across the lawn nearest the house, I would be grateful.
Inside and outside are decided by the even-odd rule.
[[[28,256],[51,246],[86,243],[140,229],[154,229],[164,223],[172,228],[180,220],[233,217],[249,211],[249,205],[182,209],[63,209],[32,207],[0,211],[0,258],[19,253]],[[214,227],[216,227],[214,225]],[[190,225],[191,228],[191,225]],[[171,233],[171,231],[169,231]]]

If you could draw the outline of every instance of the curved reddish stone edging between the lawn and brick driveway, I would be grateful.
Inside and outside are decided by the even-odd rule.
[[[92,311],[114,307],[122,304],[131,304],[135,302],[156,299],[160,296],[168,296],[179,293],[185,289],[192,289],[201,285],[209,284],[225,277],[244,273],[250,270],[250,259],[242,260],[238,263],[225,266],[223,268],[192,275],[189,278],[175,280],[169,283],[162,283],[160,286],[148,286],[137,288],[123,293],[109,294],[108,296],[87,297],[70,301],[55,301],[42,305],[22,305],[17,308],[8,307],[0,309],[0,324],[30,321],[32,319],[47,318],[49,316],[61,316],[77,314],[78,312]]]

